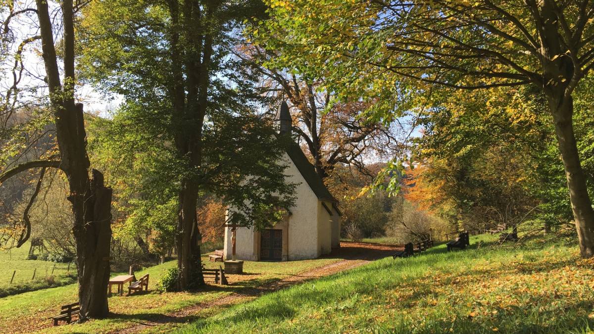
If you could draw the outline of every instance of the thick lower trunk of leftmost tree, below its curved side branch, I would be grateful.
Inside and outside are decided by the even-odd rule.
[[[78,300],[81,321],[109,313],[106,289],[109,282],[112,190],[103,185],[103,174],[93,169],[84,196],[70,196],[75,217]]]

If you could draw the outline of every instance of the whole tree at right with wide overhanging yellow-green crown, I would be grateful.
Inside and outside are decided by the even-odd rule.
[[[580,251],[594,256],[594,210],[572,119],[574,90],[594,67],[592,2],[323,3],[268,1],[274,18],[268,30],[277,39],[272,47],[286,55],[279,62],[299,66],[291,59],[306,59],[300,69],[332,78],[331,89],[342,96],[539,87],[557,134]]]

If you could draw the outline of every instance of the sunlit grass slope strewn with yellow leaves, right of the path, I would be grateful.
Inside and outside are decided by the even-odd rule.
[[[574,240],[387,258],[264,295],[184,333],[582,333],[594,328],[594,260]]]

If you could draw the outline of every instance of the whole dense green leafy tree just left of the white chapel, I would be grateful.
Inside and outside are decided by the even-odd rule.
[[[275,208],[293,201],[285,166],[277,163],[282,140],[253,112],[260,92],[230,53],[242,20],[263,10],[259,1],[108,0],[84,13],[81,61],[94,83],[124,96],[116,125],[122,138],[133,143],[140,136],[137,143],[152,141],[169,153],[152,159],[159,177],[176,186],[180,289],[204,283],[201,194],[241,208],[231,222],[257,228],[279,219]]]

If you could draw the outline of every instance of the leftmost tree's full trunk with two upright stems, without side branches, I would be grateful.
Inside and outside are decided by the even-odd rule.
[[[68,178],[77,250],[80,320],[108,315],[109,253],[111,241],[112,190],[105,187],[103,174],[93,169],[89,176],[87,134],[83,105],[74,103],[74,18],[72,0],[62,1],[64,25],[64,87],[60,83],[58,57],[53,40],[48,1],[36,0],[42,37],[43,62],[48,79],[49,99],[55,116],[60,168]]]

